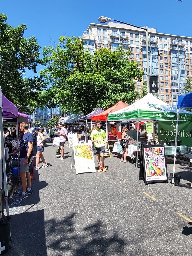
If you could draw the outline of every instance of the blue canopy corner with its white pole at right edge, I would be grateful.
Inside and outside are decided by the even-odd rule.
[[[177,123],[176,123],[176,134],[175,134],[175,154],[174,154],[173,179],[172,179],[173,186],[174,186],[174,175],[175,175],[175,162],[176,162],[176,155],[177,155],[177,137],[178,137],[180,108],[192,108],[192,92],[179,96],[177,100]]]

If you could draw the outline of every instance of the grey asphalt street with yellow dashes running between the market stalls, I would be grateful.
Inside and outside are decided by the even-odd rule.
[[[35,171],[33,194],[9,199],[9,256],[192,255],[192,166],[180,160],[180,186],[145,185],[134,164],[105,158],[107,172],[76,175],[66,143],[59,160],[50,139],[46,168]],[[41,166],[43,163],[40,162]],[[97,162],[95,161],[97,167]],[[173,159],[167,158],[173,172]]]

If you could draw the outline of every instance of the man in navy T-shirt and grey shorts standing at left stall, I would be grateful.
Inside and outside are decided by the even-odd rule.
[[[23,200],[28,197],[28,194],[32,194],[31,189],[31,174],[29,172],[29,166],[33,160],[33,140],[34,136],[28,131],[28,124],[20,123],[20,130],[23,131],[21,136],[21,146],[13,151],[13,155],[16,155],[20,151],[20,170],[19,176],[21,179],[22,193],[15,198],[15,201]]]

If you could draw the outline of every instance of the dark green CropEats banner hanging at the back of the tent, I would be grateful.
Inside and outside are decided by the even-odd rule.
[[[192,128],[191,121],[179,121],[178,124],[178,138],[181,145],[191,146],[190,130]],[[158,141],[175,140],[176,135],[176,121],[158,121]]]

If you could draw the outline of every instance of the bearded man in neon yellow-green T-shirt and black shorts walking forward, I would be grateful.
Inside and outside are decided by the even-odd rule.
[[[101,121],[95,121],[96,129],[91,132],[91,141],[93,142],[94,146],[94,154],[97,156],[97,162],[99,164],[98,172],[106,172],[106,168],[104,166],[105,161],[105,150],[107,149],[106,146],[106,133],[104,130],[101,129]],[[101,156],[101,161],[100,161]]]

